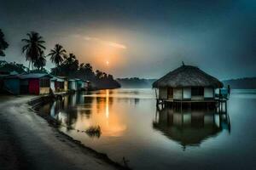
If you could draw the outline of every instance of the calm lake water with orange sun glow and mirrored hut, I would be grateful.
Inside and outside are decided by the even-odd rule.
[[[233,90],[228,114],[156,111],[154,90],[74,94],[40,111],[60,130],[134,169],[255,169],[256,91]],[[101,127],[100,136],[84,133]]]

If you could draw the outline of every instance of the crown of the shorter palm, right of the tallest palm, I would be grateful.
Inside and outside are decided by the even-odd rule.
[[[50,50],[48,54],[50,56],[50,60],[54,63],[57,67],[61,65],[66,56],[66,50],[60,44],[55,44],[55,48]]]

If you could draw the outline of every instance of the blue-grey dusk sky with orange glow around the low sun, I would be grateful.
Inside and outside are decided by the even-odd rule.
[[[20,40],[38,31],[46,54],[60,43],[114,77],[158,78],[182,61],[220,79],[253,77],[255,11],[253,0],[0,0],[3,59],[27,65]]]

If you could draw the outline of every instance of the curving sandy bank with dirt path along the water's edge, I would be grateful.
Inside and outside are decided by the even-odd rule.
[[[0,169],[120,169],[32,111],[32,96],[0,97]]]

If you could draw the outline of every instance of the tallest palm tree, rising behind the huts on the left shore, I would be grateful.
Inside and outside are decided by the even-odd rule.
[[[29,60],[29,70],[31,63],[33,64],[40,57],[42,52],[44,52],[44,40],[38,32],[31,31],[26,34],[28,39],[22,39],[22,42],[26,42],[24,47],[22,48],[22,53],[26,53],[26,60]]]

